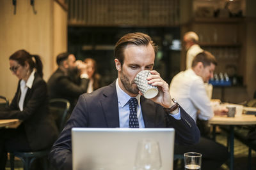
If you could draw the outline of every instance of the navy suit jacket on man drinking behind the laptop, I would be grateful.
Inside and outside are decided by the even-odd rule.
[[[181,107],[181,120],[176,120],[166,114],[162,106],[141,96],[141,110],[146,128],[174,127],[176,143],[189,145],[198,142],[200,132],[194,120]],[[60,138],[52,146],[50,159],[57,169],[72,169],[72,127],[120,127],[115,81],[79,97]]]

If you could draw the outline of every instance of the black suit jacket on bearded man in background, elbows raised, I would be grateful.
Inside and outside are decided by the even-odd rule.
[[[72,77],[65,75],[65,73],[58,68],[47,82],[49,97],[50,99],[67,99],[72,106],[75,106],[79,95],[87,91],[88,83],[89,80],[86,78],[75,81],[74,78],[72,79]]]

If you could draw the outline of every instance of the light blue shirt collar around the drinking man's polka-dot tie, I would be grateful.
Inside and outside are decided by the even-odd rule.
[[[117,99],[118,99],[118,103],[121,104],[122,107],[125,106],[125,104],[127,104],[127,102],[129,101],[129,99],[131,99],[131,96],[129,96],[129,94],[125,93],[120,86],[118,85],[118,78],[116,79],[116,92],[117,92]],[[138,100],[138,104],[140,106],[140,94],[138,94],[135,98]]]

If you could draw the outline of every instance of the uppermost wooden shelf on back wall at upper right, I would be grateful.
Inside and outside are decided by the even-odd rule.
[[[244,18],[193,18],[193,23],[223,23],[223,24],[236,24],[243,22]]]

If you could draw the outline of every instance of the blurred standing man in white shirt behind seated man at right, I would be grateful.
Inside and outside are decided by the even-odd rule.
[[[183,41],[187,51],[186,54],[186,69],[191,68],[194,57],[204,50],[198,45],[198,35],[196,32],[189,31],[184,34]]]

